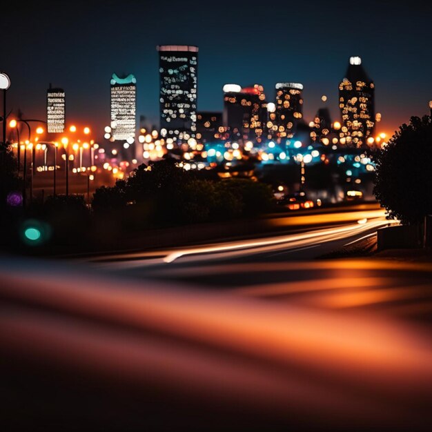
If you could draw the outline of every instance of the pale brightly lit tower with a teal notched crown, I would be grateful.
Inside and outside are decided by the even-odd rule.
[[[125,140],[132,144],[137,128],[137,80],[130,74],[120,78],[111,77],[111,129],[115,141]]]

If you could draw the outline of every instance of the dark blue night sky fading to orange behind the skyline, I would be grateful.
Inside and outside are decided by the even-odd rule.
[[[375,81],[377,132],[393,133],[432,99],[432,6],[427,1],[41,1],[2,7],[0,70],[8,108],[46,119],[46,89],[66,91],[68,124],[110,121],[110,77],[137,78],[137,119],[158,126],[158,44],[197,45],[198,110],[222,110],[226,83],[304,84],[304,118],[338,119],[348,59]],[[5,25],[3,27],[3,24]],[[326,95],[326,103],[321,101]],[[97,135],[96,135],[97,133]]]

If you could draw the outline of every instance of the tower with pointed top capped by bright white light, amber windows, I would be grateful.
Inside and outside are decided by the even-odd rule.
[[[349,59],[348,69],[339,85],[339,107],[342,114],[340,138],[355,147],[366,146],[375,127],[375,84],[368,77],[360,57]]]

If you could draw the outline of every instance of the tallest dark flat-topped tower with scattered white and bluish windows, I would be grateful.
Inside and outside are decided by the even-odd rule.
[[[197,131],[198,47],[159,45],[161,136],[181,144]]]

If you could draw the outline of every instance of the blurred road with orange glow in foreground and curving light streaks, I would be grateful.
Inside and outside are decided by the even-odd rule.
[[[315,259],[386,224],[358,216],[166,251],[4,257],[2,430],[429,431],[431,266]]]

